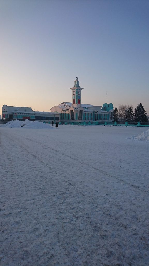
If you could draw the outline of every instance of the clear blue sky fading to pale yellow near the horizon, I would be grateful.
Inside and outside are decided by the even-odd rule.
[[[0,104],[142,103],[149,114],[149,2],[0,0]],[[1,107],[0,107],[1,114]]]

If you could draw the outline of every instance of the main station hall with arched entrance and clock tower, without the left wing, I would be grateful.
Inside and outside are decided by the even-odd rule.
[[[78,77],[76,77],[72,90],[72,102],[62,102],[58,106],[53,106],[51,112],[60,114],[60,121],[83,122],[83,121],[107,121],[112,122],[113,104],[104,103],[103,106],[94,106],[81,103],[81,91]]]

